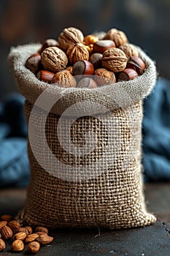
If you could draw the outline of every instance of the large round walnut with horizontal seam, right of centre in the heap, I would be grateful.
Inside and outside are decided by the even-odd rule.
[[[103,54],[102,66],[112,72],[120,72],[125,69],[128,58],[123,50],[119,48],[109,48]]]

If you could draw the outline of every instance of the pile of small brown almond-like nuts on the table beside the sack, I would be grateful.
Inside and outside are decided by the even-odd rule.
[[[12,251],[21,252],[27,246],[27,251],[36,253],[41,246],[50,244],[53,237],[48,236],[46,227],[21,227],[11,215],[5,214],[0,218],[0,252],[6,248],[6,241],[12,244]]]

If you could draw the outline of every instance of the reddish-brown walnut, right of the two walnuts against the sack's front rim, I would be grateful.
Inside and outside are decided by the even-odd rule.
[[[112,71],[101,68],[96,69],[94,78],[98,86],[108,85],[116,82],[115,74]]]

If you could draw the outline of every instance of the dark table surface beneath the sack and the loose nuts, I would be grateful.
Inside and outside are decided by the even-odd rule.
[[[148,210],[157,222],[149,227],[127,230],[51,230],[52,244],[44,246],[36,255],[44,256],[169,256],[170,255],[170,184],[146,184]],[[0,214],[15,215],[23,207],[26,189],[0,190]],[[0,256],[29,255],[11,251],[10,244]]]

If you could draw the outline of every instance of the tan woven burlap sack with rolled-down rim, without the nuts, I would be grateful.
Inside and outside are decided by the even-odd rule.
[[[144,203],[141,165],[142,99],[155,85],[154,62],[139,48],[147,65],[139,78],[98,89],[51,89],[25,67],[28,56],[38,48],[39,44],[23,45],[9,53],[18,89],[26,97],[29,121],[31,181],[20,221],[47,227],[109,229],[155,222]],[[47,106],[47,93],[39,108],[36,99],[47,89],[50,97],[57,96],[58,101],[53,105],[52,100],[51,107]],[[73,117],[77,120],[73,121]],[[71,127],[71,140],[66,138],[67,127]],[[86,145],[88,132],[96,135],[92,151]],[[61,140],[66,140],[67,150]],[[72,143],[77,146],[74,152],[69,151]],[[93,143],[88,140],[88,146]],[[79,154],[81,148],[85,148],[84,154]]]

